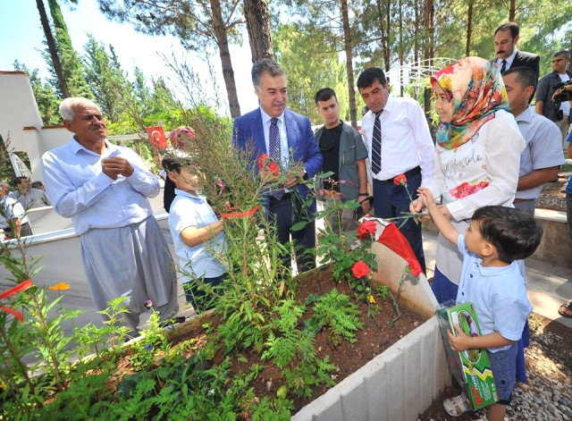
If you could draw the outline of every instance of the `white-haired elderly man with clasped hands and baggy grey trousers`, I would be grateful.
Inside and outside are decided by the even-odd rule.
[[[42,156],[46,191],[55,212],[71,218],[80,234],[81,256],[94,305],[126,297],[124,323],[137,335],[146,301],[162,319],[178,310],[177,276],[171,253],[147,198],[159,182],[128,147],[106,140],[107,127],[96,104],[66,98],[63,125],[69,143]]]

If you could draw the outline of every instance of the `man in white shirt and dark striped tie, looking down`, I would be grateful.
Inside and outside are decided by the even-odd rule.
[[[389,82],[377,67],[359,75],[357,88],[369,108],[361,128],[369,151],[375,216],[403,216],[409,212],[411,198],[417,197],[417,189],[433,177],[434,147],[425,114],[412,98],[390,97]],[[393,182],[400,174],[407,177],[407,190]],[[409,218],[397,225],[425,272],[421,224]]]

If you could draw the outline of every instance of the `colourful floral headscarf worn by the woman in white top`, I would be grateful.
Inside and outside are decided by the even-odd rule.
[[[446,149],[465,144],[494,118],[498,110],[510,111],[509,97],[495,64],[480,57],[465,57],[431,78],[445,92],[453,106],[450,122],[442,122],[437,143]]]

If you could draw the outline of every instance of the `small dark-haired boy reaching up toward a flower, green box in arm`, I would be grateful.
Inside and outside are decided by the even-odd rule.
[[[455,326],[449,333],[451,349],[487,349],[499,402],[487,408],[489,421],[502,420],[510,404],[517,370],[517,341],[532,306],[516,260],[531,256],[540,244],[543,228],[518,209],[484,206],[475,211],[464,234],[442,215],[429,189],[417,190],[442,235],[458,245],[463,265],[457,303],[472,302],[481,324],[481,336],[467,336]],[[472,408],[464,395],[443,402],[456,417]]]

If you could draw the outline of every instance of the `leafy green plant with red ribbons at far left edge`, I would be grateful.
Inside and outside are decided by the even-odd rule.
[[[0,207],[0,213],[5,217],[4,207]],[[13,225],[10,218],[8,221]],[[56,316],[48,316],[48,312],[55,311],[62,297],[48,302],[46,290],[33,285],[31,277],[38,273],[33,267],[38,261],[39,257],[26,257],[26,244],[19,237],[0,246],[0,263],[12,274],[8,280],[13,282],[14,290],[20,290],[6,297],[10,301],[0,311],[3,365],[0,378],[4,383],[0,400],[10,401],[5,409],[10,411],[7,414],[24,418],[37,413],[46,393],[65,389],[71,356],[66,346],[71,338],[65,336],[62,324],[78,314],[63,310]],[[30,356],[40,359],[28,366],[23,361]],[[40,371],[42,375],[38,376]],[[4,412],[4,408],[2,410]],[[0,412],[2,416],[4,414]]]

